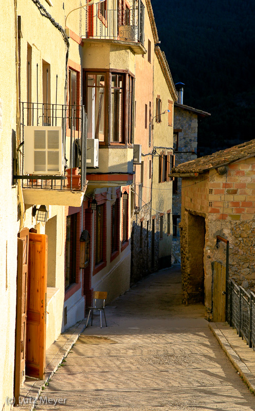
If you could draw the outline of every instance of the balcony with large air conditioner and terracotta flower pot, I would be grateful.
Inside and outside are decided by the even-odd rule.
[[[22,180],[25,204],[81,206],[87,187],[86,141],[83,106],[21,103],[20,171],[13,180]]]

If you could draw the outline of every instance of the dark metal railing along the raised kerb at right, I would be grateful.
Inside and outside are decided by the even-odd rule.
[[[255,349],[255,294],[233,280],[227,282],[226,320]]]

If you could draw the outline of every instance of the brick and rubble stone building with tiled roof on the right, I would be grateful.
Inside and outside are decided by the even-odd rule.
[[[182,178],[181,271],[183,301],[205,303],[213,317],[214,263],[226,266],[229,278],[246,290],[255,289],[255,140],[180,164],[172,170]]]

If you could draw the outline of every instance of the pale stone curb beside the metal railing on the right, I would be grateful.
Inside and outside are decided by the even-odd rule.
[[[217,327],[215,323],[208,323],[209,328],[217,339],[218,343],[226,353],[228,359],[233,364],[234,368],[239,372],[240,377],[250,389],[251,393],[255,393],[255,376],[241,360],[238,353],[232,348],[226,337],[224,337],[222,331]]]

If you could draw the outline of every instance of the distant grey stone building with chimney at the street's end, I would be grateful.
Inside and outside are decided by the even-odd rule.
[[[177,87],[177,85],[176,85]],[[178,88],[178,87],[177,87]],[[197,110],[181,103],[180,90],[178,102],[174,104],[174,154],[175,166],[197,158],[198,117],[210,116],[206,111]],[[173,241],[172,263],[180,263],[181,220],[181,178],[173,183]]]

